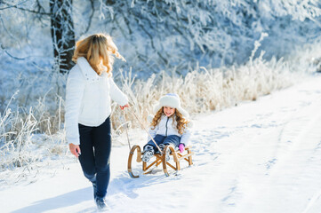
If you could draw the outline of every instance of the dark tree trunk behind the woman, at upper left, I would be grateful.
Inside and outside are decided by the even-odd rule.
[[[53,56],[60,73],[68,73],[74,66],[75,31],[72,20],[72,0],[51,0],[51,32]]]

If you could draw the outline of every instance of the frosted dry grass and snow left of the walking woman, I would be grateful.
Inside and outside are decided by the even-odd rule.
[[[35,178],[42,168],[52,166],[52,160],[66,158],[68,152],[65,131],[60,129],[61,103],[56,104],[56,112],[45,102],[28,110],[21,106],[12,110],[10,104],[0,113],[0,182],[9,185]],[[56,169],[61,166],[65,167],[59,163]]]

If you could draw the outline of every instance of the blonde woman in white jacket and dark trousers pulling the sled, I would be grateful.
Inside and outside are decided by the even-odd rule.
[[[122,109],[128,99],[111,75],[113,57],[124,59],[108,35],[88,36],[76,43],[66,88],[66,138],[72,154],[79,158],[84,177],[92,182],[98,209],[106,208],[110,177],[110,99]]]

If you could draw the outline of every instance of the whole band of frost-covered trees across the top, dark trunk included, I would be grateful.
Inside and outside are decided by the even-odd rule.
[[[267,58],[283,57],[296,46],[315,39],[321,26],[321,5],[317,0],[29,0],[12,3],[3,0],[1,3],[0,12],[22,9],[25,19],[31,17],[37,23],[35,27],[28,26],[35,31],[39,26],[42,30],[48,28],[50,20],[56,20],[52,22],[52,35],[60,30],[60,36],[52,36],[52,47],[54,55],[58,55],[59,67],[66,66],[60,67],[62,71],[70,67],[66,63],[71,61],[73,34],[76,39],[97,32],[114,36],[128,62],[116,63],[116,67],[125,67],[125,70],[132,67],[139,76],[146,76],[160,70],[186,74],[197,66],[242,64],[249,59],[255,41],[262,34],[268,36],[254,57],[261,51],[266,51]],[[30,11],[32,14],[26,15]],[[11,23],[12,28],[19,28],[19,22]],[[4,37],[14,35],[8,28],[5,31],[9,33]],[[50,35],[44,33],[44,36]]]

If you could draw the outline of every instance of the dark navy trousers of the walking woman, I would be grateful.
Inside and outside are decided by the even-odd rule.
[[[97,197],[106,196],[110,177],[109,157],[111,150],[110,118],[98,127],[78,124],[80,135],[79,162],[87,177],[96,185]]]

